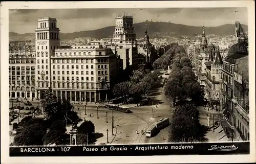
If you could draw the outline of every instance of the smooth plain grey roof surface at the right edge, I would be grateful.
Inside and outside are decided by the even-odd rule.
[[[246,82],[249,82],[249,56],[237,60],[238,70],[242,73]]]

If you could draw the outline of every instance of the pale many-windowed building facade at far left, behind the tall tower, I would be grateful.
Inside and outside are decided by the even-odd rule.
[[[36,98],[35,49],[29,45],[9,45],[9,97]]]

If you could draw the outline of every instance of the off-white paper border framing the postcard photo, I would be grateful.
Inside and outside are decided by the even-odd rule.
[[[120,157],[9,157],[8,9],[247,7],[249,32],[250,155],[170,155]],[[1,163],[202,163],[255,162],[254,1],[2,2],[1,3]]]

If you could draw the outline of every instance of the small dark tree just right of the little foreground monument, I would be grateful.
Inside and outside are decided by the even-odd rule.
[[[91,121],[85,121],[83,122],[78,128],[78,133],[86,134],[88,135],[88,143],[93,143],[95,140],[95,127],[93,122]]]

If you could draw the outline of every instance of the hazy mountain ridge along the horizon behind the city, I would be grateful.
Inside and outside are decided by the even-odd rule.
[[[244,31],[248,30],[248,26],[242,25],[242,27],[244,28]],[[205,34],[214,34],[219,36],[234,35],[234,29],[235,26],[232,24],[225,24],[217,27],[205,27]],[[95,39],[112,38],[114,30],[115,26],[108,26],[96,30],[60,33],[60,39],[75,39],[79,37],[91,37]],[[202,27],[158,21],[144,21],[134,24],[134,30],[137,38],[143,37],[145,31],[147,31],[151,38],[196,36],[202,33]],[[9,40],[35,40],[35,33],[18,34],[15,32],[9,32]]]

